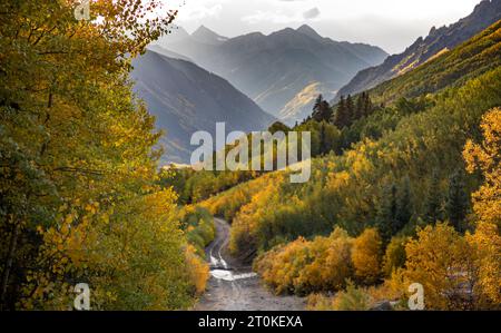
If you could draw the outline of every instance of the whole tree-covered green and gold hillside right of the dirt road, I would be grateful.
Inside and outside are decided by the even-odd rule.
[[[426,308],[499,308],[500,33],[334,107],[320,97],[294,128],[312,130],[308,183],[271,173],[202,204],[232,221],[232,252],[311,308],[404,308],[415,282]]]

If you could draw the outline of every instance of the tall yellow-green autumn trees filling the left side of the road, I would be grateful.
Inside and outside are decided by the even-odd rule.
[[[128,80],[177,12],[99,0],[77,21],[77,4],[0,4],[0,306],[71,310],[87,283],[91,310],[189,308],[212,217],[159,185],[161,134]]]

